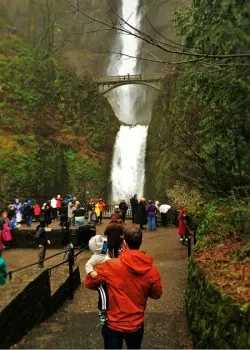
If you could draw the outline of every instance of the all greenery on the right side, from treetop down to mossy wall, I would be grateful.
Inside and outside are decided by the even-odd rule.
[[[204,55],[250,52],[249,1],[194,0],[176,12],[183,44]],[[196,348],[249,348],[249,57],[176,65],[153,108],[148,195],[188,205],[197,233],[187,313]]]

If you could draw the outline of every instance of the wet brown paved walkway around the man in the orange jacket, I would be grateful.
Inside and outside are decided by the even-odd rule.
[[[190,349],[184,301],[187,248],[179,244],[176,229],[159,228],[156,232],[145,230],[142,250],[154,257],[164,288],[160,300],[148,301],[143,348]],[[89,256],[86,254],[86,260]],[[34,328],[17,348],[103,348],[96,310],[97,293],[81,285],[73,301]]]

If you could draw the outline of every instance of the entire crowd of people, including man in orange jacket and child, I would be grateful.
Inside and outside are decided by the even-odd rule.
[[[85,265],[85,286],[98,291],[98,315],[102,325],[105,349],[122,349],[125,340],[128,349],[140,349],[144,333],[144,313],[148,297],[159,299],[162,295],[162,282],[159,271],[151,256],[140,251],[145,225],[155,231],[161,225],[176,221],[176,210],[159,201],[138,200],[135,194],[130,199],[132,227],[126,225],[128,203],[122,199],[114,207],[110,222],[103,235],[94,234],[88,246],[92,252]],[[36,244],[39,266],[44,267],[48,239],[48,227],[58,220],[62,226],[64,260],[68,259],[69,249],[73,248],[70,235],[71,225],[84,224],[94,227],[102,223],[106,204],[102,198],[88,201],[86,209],[77,197],[60,195],[45,202],[41,207],[31,200],[23,204],[16,200],[0,217],[0,254],[4,245],[11,241],[11,230],[23,221],[28,227],[32,219],[39,221],[36,227]],[[170,215],[171,214],[171,215]],[[187,234],[187,208],[179,212],[178,234],[181,240]],[[136,227],[136,224],[138,225]],[[0,255],[0,284],[4,284],[7,267]],[[4,277],[5,276],[5,277]]]

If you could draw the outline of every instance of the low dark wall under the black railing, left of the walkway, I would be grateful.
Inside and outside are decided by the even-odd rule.
[[[72,289],[81,283],[79,267],[74,270]],[[49,271],[43,271],[0,313],[0,348],[7,349],[30,329],[44,321],[69,297],[69,278],[51,295]]]

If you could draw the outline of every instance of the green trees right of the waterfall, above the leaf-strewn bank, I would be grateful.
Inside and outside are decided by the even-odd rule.
[[[176,27],[197,52],[248,52],[249,6],[247,1],[194,1],[176,14]],[[148,157],[158,158],[157,194],[168,196],[181,184],[204,200],[232,192],[248,196],[250,66],[240,58],[207,59],[179,70],[167,77],[149,126]]]

